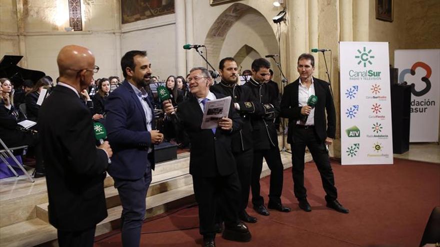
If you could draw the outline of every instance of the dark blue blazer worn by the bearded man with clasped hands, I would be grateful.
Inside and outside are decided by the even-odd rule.
[[[149,100],[147,103],[152,110]],[[135,180],[143,177],[146,169],[154,170],[154,146],[146,129],[145,113],[137,95],[124,80],[105,102],[107,138],[113,151],[108,173],[119,179]],[[154,120],[154,111],[152,111]],[[154,121],[151,121],[154,129]],[[148,149],[151,153],[148,154]]]

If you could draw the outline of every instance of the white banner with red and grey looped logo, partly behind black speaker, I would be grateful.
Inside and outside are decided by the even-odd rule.
[[[440,49],[395,50],[398,83],[411,88],[409,142],[437,142],[440,115]]]

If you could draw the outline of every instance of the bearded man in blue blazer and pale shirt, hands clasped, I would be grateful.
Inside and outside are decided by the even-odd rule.
[[[154,130],[152,99],[144,90],[151,76],[146,51],[128,51],[120,64],[125,80],[110,93],[105,105],[108,140],[114,147],[108,173],[122,204],[122,245],[138,247],[154,169],[154,144],[162,142],[163,135]]]

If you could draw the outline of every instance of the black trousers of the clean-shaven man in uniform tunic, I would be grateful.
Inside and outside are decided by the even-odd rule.
[[[263,158],[266,160],[267,166],[270,169],[270,187],[269,187],[269,202],[281,203],[283,170],[281,155],[278,147],[270,147],[267,150],[253,151],[253,166],[250,187],[252,190],[252,204],[258,207],[264,204],[264,199],[260,195],[259,177],[263,166]]]

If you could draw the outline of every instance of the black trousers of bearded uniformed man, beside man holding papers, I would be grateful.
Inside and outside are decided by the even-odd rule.
[[[241,185],[241,196],[238,211],[244,211],[249,202],[250,179],[252,175],[253,149],[244,152],[234,153],[235,163],[237,164],[238,179]]]

